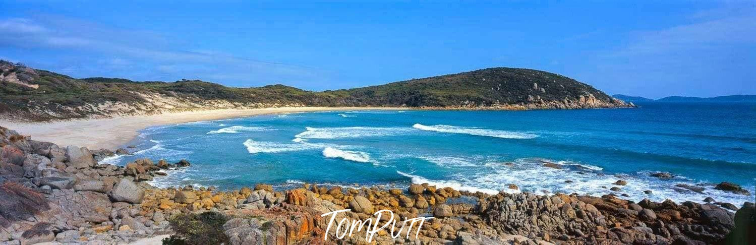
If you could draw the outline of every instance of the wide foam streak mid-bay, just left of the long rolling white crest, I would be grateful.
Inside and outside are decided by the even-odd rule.
[[[389,135],[401,135],[408,132],[407,128],[381,128],[381,127],[335,127],[335,128],[312,128],[306,127],[305,132],[294,135],[296,138],[364,138]]]

